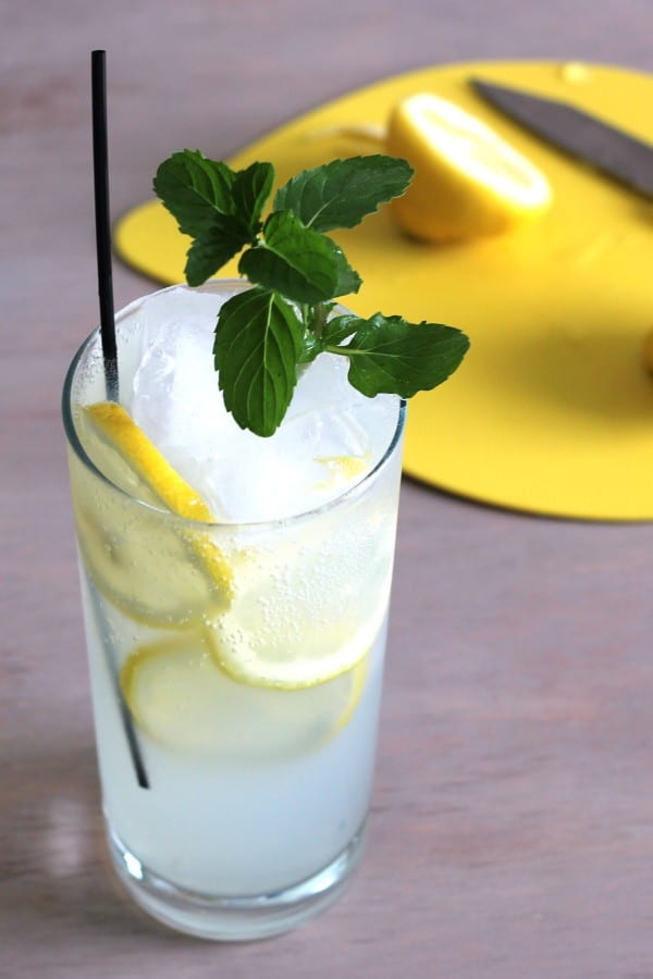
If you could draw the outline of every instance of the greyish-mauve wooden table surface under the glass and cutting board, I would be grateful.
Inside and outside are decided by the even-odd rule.
[[[650,0],[3,0],[0,976],[653,977],[651,525],[404,486],[367,857],[269,942],[168,933],[108,872],[63,433],[97,321],[88,52],[109,57],[114,214],[182,146],[226,156],[442,61],[651,70]],[[344,8],[343,8],[344,11]],[[116,305],[151,288],[120,264]]]

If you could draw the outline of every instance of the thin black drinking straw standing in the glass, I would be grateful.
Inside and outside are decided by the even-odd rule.
[[[100,335],[107,398],[118,401],[118,349],[115,346],[115,317],[113,311],[113,276],[111,273],[111,224],[109,221],[109,153],[107,148],[107,60],[104,51],[91,51],[90,84],[93,95],[93,172],[95,186],[96,247],[98,256],[98,295],[100,299]],[[109,669],[113,679],[125,736],[130,746],[136,780],[141,789],[149,789],[149,780],[143,764],[138,739],[132,717],[124,702],[115,657],[107,641]]]

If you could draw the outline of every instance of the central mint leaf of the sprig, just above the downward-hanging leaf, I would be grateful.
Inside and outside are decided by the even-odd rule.
[[[304,227],[291,211],[270,214],[263,237],[264,243],[246,251],[238,264],[250,282],[295,302],[323,302],[336,295],[343,265],[330,238]]]

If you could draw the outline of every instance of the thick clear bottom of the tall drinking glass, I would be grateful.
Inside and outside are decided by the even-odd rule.
[[[176,887],[148,870],[109,825],[107,837],[122,884],[152,918],[195,938],[241,942],[289,931],[337,901],[361,857],[365,825],[318,873],[284,891],[254,897],[211,897]]]

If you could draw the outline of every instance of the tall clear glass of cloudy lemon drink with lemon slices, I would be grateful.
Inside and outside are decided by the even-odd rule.
[[[118,314],[126,423],[106,401],[98,332],[63,393],[109,852],[155,918],[223,940],[311,917],[360,856],[405,411],[384,396],[365,453],[311,459],[322,476],[296,511],[271,516],[259,485],[263,519],[213,517],[128,422],[152,329],[175,303],[189,322],[243,287],[173,287]],[[312,414],[321,425],[319,404]],[[266,451],[275,438],[260,439]],[[221,472],[249,461],[222,459]],[[295,491],[298,479],[291,469]]]

